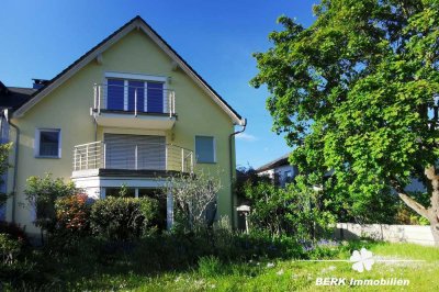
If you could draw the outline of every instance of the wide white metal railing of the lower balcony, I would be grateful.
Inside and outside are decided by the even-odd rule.
[[[74,171],[90,169],[193,172],[193,151],[159,143],[93,142],[75,146]]]

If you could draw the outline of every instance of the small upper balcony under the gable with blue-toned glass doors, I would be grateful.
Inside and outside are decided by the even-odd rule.
[[[112,79],[93,91],[91,114],[98,125],[169,130],[176,122],[176,93],[164,83]]]

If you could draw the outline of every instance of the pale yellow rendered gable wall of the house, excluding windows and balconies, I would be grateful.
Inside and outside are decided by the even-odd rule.
[[[63,86],[40,101],[20,119],[13,119],[21,130],[20,160],[18,177],[18,202],[25,203],[23,191],[31,176],[52,172],[66,181],[72,172],[72,150],[78,144],[94,141],[94,124],[90,116],[93,103],[93,83],[102,83],[105,71],[167,76],[169,87],[176,91],[175,127],[164,134],[167,143],[194,149],[195,135],[214,136],[216,164],[199,164],[196,171],[218,176],[222,190],[218,193],[218,214],[230,216],[230,168],[228,137],[234,132],[232,119],[182,70],[172,70],[172,60],[142,31],[132,31],[102,54],[103,63],[91,61],[75,74]],[[61,158],[35,158],[35,130],[38,127],[61,130]],[[126,130],[98,127],[98,141],[104,132],[125,134],[154,134],[155,130]],[[235,168],[234,168],[235,169]],[[219,171],[219,175],[217,175]],[[12,216],[11,200],[8,220]],[[29,232],[36,232],[32,222],[33,212],[29,206],[16,206],[16,221],[26,225]]]

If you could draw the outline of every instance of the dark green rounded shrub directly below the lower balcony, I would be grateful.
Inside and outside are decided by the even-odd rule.
[[[150,198],[108,198],[91,206],[90,225],[97,236],[126,240],[149,232],[158,202]]]

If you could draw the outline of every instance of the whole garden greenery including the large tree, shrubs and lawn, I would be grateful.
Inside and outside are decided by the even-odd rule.
[[[0,224],[0,290],[439,291],[438,247],[333,238],[337,222],[427,224],[439,244],[438,1],[323,0],[314,14],[309,27],[279,18],[272,47],[254,55],[250,83],[268,89],[300,176],[279,188],[240,171],[249,232],[216,216],[215,176],[171,178],[145,198],[122,186],[94,202],[33,177],[25,204],[40,244]],[[8,167],[0,159],[0,173]],[[425,190],[409,191],[414,181]]]

